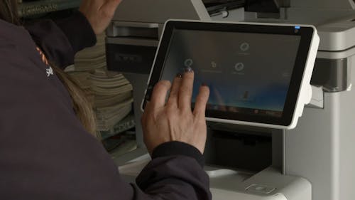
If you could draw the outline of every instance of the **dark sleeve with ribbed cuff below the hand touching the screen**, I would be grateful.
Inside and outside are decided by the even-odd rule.
[[[145,194],[138,190],[135,199],[212,199],[203,157],[195,147],[167,142],[154,150],[152,158],[136,179]]]

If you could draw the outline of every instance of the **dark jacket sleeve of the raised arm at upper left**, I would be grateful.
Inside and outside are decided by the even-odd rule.
[[[48,60],[60,68],[72,65],[75,53],[96,43],[89,21],[79,11],[67,19],[45,19],[25,28]]]

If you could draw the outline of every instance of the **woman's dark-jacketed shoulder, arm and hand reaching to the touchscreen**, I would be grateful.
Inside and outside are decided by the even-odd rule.
[[[6,92],[0,98],[1,199],[211,199],[209,179],[202,169],[208,88],[202,87],[204,95],[199,95],[195,106],[199,109],[192,113],[193,73],[176,78],[170,92],[170,105],[181,102],[178,107],[183,112],[176,108],[165,116],[169,87],[155,88],[143,120],[153,159],[138,176],[137,185],[129,184],[102,144],[77,120],[62,83],[46,74],[48,66],[28,33],[4,21],[0,27],[0,38],[5,38],[0,41],[1,69],[6,72],[0,73],[0,90]],[[192,115],[195,120],[190,120]],[[165,124],[167,120],[175,123]]]

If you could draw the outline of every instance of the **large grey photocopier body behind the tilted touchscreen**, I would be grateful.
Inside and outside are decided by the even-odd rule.
[[[106,46],[108,68],[133,84],[138,149],[114,158],[124,178],[134,181],[138,171],[124,165],[146,154],[141,101],[168,19],[312,24],[320,36],[312,101],[295,129],[207,124],[213,199],[355,199],[354,0],[122,1]]]

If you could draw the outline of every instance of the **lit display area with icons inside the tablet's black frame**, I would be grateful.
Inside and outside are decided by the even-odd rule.
[[[186,67],[210,89],[207,110],[282,117],[300,36],[175,29],[161,80]]]

